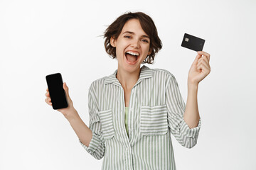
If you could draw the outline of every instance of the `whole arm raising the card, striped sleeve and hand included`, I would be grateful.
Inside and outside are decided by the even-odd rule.
[[[169,127],[176,140],[188,148],[196,145],[198,132],[201,128],[197,103],[198,84],[210,73],[210,55],[203,51],[197,53],[198,55],[188,73],[186,109],[175,77],[172,77],[167,85],[169,88],[166,89]]]

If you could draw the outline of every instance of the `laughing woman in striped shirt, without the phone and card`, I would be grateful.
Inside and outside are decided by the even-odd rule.
[[[58,109],[75,130],[81,145],[102,169],[176,169],[171,133],[184,147],[196,145],[201,120],[198,83],[210,73],[210,55],[198,52],[188,73],[183,102],[173,74],[152,64],[161,49],[154,22],[145,13],[125,13],[105,31],[105,48],[118,61],[109,77],[89,89],[90,125],[83,123],[68,95],[68,108]],[[51,105],[46,93],[46,103]]]

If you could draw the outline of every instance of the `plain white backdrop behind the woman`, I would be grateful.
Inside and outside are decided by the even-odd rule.
[[[118,16],[153,18],[163,48],[150,68],[174,74],[186,103],[196,52],[184,33],[206,40],[211,72],[200,82],[198,144],[174,136],[178,170],[256,169],[256,1],[0,1],[0,169],[101,169],[68,120],[45,103],[46,75],[60,72],[89,125],[92,81],[117,69],[100,36]]]

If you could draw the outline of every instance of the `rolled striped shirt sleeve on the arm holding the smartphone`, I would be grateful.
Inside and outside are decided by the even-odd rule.
[[[102,159],[105,154],[105,141],[102,137],[97,101],[93,94],[95,94],[95,91],[92,89],[92,86],[90,86],[88,94],[88,108],[90,116],[89,128],[92,130],[92,140],[90,141],[88,147],[83,145],[82,142],[79,142],[82,147],[84,147],[85,150],[92,155],[92,157],[95,157],[96,159]]]

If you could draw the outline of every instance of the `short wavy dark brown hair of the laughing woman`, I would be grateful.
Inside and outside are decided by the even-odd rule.
[[[112,45],[110,44],[110,38],[114,38],[115,40],[117,40],[118,36],[122,31],[122,28],[124,27],[124,24],[132,18],[139,20],[142,29],[147,35],[149,35],[150,38],[149,49],[151,50],[151,54],[148,55],[142,63],[153,64],[154,57],[156,53],[161,50],[162,43],[159,36],[157,35],[154,21],[152,20],[152,18],[150,18],[150,16],[142,12],[124,13],[122,16],[119,16],[110,26],[108,26],[104,34],[105,50],[107,54],[109,54],[110,57],[112,57],[113,59],[117,57],[115,47],[112,47]]]

